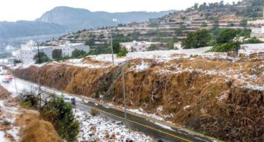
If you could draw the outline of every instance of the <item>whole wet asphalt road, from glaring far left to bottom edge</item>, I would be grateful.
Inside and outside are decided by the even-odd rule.
[[[0,80],[3,76],[0,76]],[[2,83],[2,86],[6,87],[10,92],[15,92],[14,80],[9,84]],[[21,80],[16,78],[16,84],[18,92],[21,92],[23,89],[33,89],[38,87],[38,84],[28,82],[26,80]],[[55,89],[50,89],[45,87],[46,92],[58,92]],[[125,123],[124,111],[122,109],[115,109],[110,107],[107,104],[97,103],[94,100],[89,99],[76,99],[75,107],[81,109],[82,111],[89,111],[90,109],[97,109],[101,115],[108,117],[114,121],[122,121]],[[128,113],[127,126],[130,129],[136,131],[142,131],[143,133],[153,136],[155,140],[163,141],[214,141],[213,138],[203,136],[198,133],[193,133],[192,131],[186,131],[185,129],[172,129],[170,126],[160,124],[159,121],[152,121],[146,119],[145,116],[139,116],[137,114]]]

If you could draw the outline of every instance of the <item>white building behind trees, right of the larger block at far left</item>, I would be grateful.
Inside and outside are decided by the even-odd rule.
[[[62,56],[72,56],[72,51],[77,50],[84,50],[86,53],[89,52],[89,45],[84,45],[84,43],[70,43],[67,41],[64,45],[59,45],[55,47],[55,49],[62,50]]]

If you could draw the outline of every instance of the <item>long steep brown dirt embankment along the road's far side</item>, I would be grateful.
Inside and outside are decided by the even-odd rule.
[[[203,58],[131,60],[126,65],[126,102],[131,108],[167,116],[167,121],[224,141],[263,141],[263,64],[262,60]],[[123,102],[120,66],[57,64],[14,73],[73,94],[116,105]]]

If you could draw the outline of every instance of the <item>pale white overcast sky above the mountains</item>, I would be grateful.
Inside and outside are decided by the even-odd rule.
[[[166,11],[182,10],[195,2],[220,2],[221,0],[1,0],[0,21],[35,20],[56,6],[70,6],[89,11]],[[238,0],[224,0],[225,3]]]

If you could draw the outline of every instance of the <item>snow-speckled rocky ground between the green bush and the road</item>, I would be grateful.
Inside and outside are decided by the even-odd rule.
[[[128,138],[132,141],[153,141],[150,136],[127,129],[122,122],[111,121],[104,116],[92,116],[85,111],[75,109],[75,117],[80,123],[78,141],[92,141],[94,138],[100,142],[107,140],[126,141]]]

